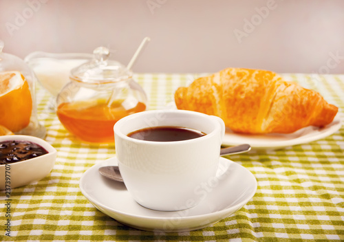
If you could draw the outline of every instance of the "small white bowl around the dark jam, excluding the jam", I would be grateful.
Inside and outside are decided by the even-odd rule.
[[[6,140],[25,140],[39,144],[48,152],[45,155],[27,159],[22,162],[14,162],[10,166],[0,165],[0,190],[6,188],[17,188],[39,181],[46,177],[54,166],[56,160],[56,149],[45,140],[30,135],[3,135],[0,142]],[[7,179],[7,180],[6,180]],[[6,181],[10,181],[6,184]],[[8,185],[8,186],[6,186]]]

